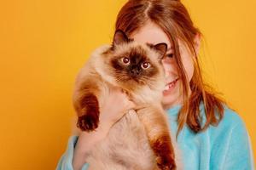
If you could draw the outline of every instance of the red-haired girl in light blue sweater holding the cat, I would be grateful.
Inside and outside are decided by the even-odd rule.
[[[137,42],[168,45],[162,59],[166,71],[162,104],[171,131],[177,134],[183,168],[253,169],[244,123],[202,80],[197,58],[201,32],[183,4],[179,0],[130,0],[119,12],[118,29]],[[133,107],[120,89],[113,88],[102,106],[99,127],[71,137],[57,169],[86,169],[86,153]]]

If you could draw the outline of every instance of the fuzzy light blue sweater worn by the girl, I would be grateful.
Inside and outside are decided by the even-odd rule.
[[[177,132],[177,114],[181,106],[167,111],[172,133]],[[205,122],[204,106],[200,107]],[[73,170],[73,149],[78,137],[68,140],[67,150],[61,156],[57,170]],[[193,133],[183,127],[178,134],[177,144],[182,152],[184,170],[253,170],[253,151],[244,123],[236,112],[224,108],[224,118],[217,127],[210,126],[206,131]],[[84,164],[83,170],[88,168]]]

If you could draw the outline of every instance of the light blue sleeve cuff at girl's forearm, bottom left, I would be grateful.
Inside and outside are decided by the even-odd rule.
[[[67,150],[61,156],[61,159],[58,162],[56,170],[73,170],[72,160],[73,160],[73,150],[75,144],[77,143],[79,137],[78,136],[71,136],[68,139]],[[87,170],[89,167],[88,163],[85,163],[82,167],[82,170]]]

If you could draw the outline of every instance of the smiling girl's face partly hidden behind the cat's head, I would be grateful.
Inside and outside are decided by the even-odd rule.
[[[183,90],[181,86],[182,82],[178,77],[177,64],[174,59],[175,56],[173,55],[172,44],[166,36],[166,33],[162,31],[159,26],[148,22],[141,29],[132,33],[131,38],[137,42],[148,42],[151,44],[165,42],[167,44],[168,48],[166,57],[162,59],[162,64],[166,73],[166,88],[163,91],[162,103],[165,108],[171,108],[173,105],[181,104],[183,102]],[[192,60],[193,56],[189,53],[188,48],[186,48],[183,42],[179,41],[178,44],[183,66],[187,75],[187,80],[190,82],[194,72],[194,64]]]

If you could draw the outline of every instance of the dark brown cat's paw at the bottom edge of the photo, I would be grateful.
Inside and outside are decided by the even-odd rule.
[[[172,155],[158,156],[156,162],[161,170],[176,170],[176,163]]]

